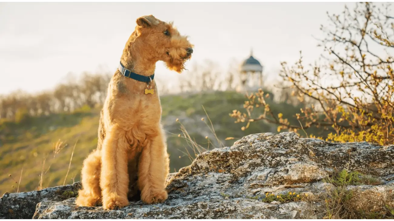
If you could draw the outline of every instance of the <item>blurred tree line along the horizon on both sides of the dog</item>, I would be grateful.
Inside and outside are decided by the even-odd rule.
[[[84,72],[79,78],[70,75],[52,90],[34,94],[17,90],[0,95],[0,119],[20,120],[24,116],[73,112],[84,106],[98,107],[105,101],[112,74]],[[179,76],[177,92],[235,90],[240,84],[238,78],[236,67],[222,70],[214,62],[205,61],[203,64],[195,65],[189,73]],[[165,83],[158,84],[158,87],[161,95],[170,93]],[[278,98],[289,100],[290,93],[289,90],[282,90],[278,92]]]

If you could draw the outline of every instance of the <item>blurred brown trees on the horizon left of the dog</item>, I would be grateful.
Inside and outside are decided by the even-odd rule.
[[[105,101],[108,83],[112,75],[107,72],[90,74],[85,72],[77,80],[72,73],[68,74],[64,83],[53,91],[27,94],[17,90],[0,96],[0,118],[22,120],[28,116],[50,114],[52,112],[71,112],[84,105],[93,108]],[[18,116],[16,116],[18,115]]]

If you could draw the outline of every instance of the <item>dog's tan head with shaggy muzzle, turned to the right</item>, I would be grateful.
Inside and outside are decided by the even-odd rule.
[[[139,45],[143,47],[139,52],[144,55],[150,53],[147,57],[164,61],[170,70],[182,72],[185,62],[193,53],[188,37],[180,35],[172,22],[163,22],[153,15],[139,17],[136,23],[135,41],[140,41],[142,44]]]

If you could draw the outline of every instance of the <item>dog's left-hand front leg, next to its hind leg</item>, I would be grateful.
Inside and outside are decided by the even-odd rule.
[[[102,145],[100,186],[102,207],[115,210],[128,205],[127,148],[125,131],[111,127]]]

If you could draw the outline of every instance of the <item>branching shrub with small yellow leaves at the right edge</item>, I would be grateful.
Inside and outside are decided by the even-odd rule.
[[[352,11],[345,7],[341,15],[327,13],[331,24],[320,28],[327,36],[318,45],[324,49],[320,62],[305,68],[301,56],[294,66],[281,63],[284,84],[291,85],[292,96],[304,103],[296,114],[299,125],[274,113],[262,90],[248,96],[246,112],[234,110],[230,116],[247,123],[243,129],[264,120],[277,124],[278,131],[302,133],[303,129],[322,128],[330,132],[323,138],[335,142],[392,144],[394,17],[388,15],[389,6],[363,2]],[[306,103],[305,98],[316,104]],[[256,112],[260,114],[254,117]]]

